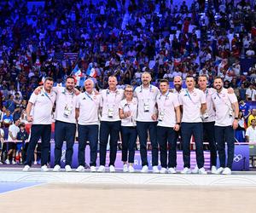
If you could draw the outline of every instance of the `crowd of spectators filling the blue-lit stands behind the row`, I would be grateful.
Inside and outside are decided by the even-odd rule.
[[[221,76],[240,101],[255,101],[254,1],[45,0],[0,4],[0,114],[3,127],[26,122],[26,101],[45,77],[63,84],[79,67],[78,86],[92,78],[97,89],[108,77],[119,86],[140,85],[148,71],[154,83],[175,76]],[[187,5],[186,2],[189,2]],[[191,3],[190,3],[191,2]],[[207,2],[207,3],[206,3]],[[242,103],[246,104],[246,103]],[[247,109],[247,117],[250,111]]]

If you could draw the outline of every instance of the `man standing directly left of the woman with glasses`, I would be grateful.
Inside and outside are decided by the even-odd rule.
[[[102,118],[100,127],[100,167],[97,171],[105,171],[108,136],[110,135],[110,161],[109,171],[115,172],[114,162],[117,153],[119,130],[121,120],[119,118],[119,102],[123,100],[124,89],[117,89],[117,78],[108,78],[108,89],[103,89],[102,94]]]

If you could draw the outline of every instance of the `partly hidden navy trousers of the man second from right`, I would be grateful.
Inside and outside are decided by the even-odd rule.
[[[216,166],[217,164],[217,148],[214,138],[214,124],[214,121],[203,123],[204,139],[209,143],[211,153],[211,166]]]

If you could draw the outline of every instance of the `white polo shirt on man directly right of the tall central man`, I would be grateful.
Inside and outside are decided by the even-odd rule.
[[[156,98],[159,120],[158,126],[174,127],[177,123],[175,107],[179,106],[177,95],[167,92],[166,95],[157,95]]]

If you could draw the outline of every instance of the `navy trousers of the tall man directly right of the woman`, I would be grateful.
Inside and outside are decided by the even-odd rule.
[[[147,141],[148,132],[152,147],[152,165],[158,165],[158,144],[156,141],[156,124],[157,122],[137,121],[137,135],[140,140],[140,153],[142,164],[148,165]]]

